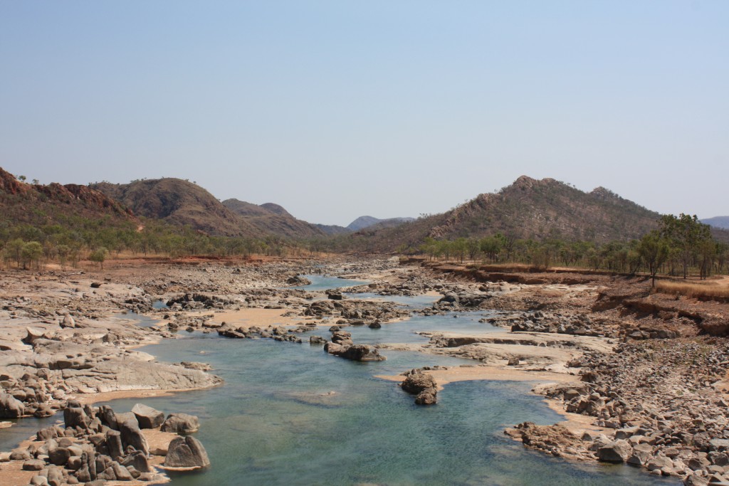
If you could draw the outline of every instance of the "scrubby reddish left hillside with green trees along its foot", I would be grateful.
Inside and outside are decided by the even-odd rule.
[[[40,248],[40,251],[39,251]],[[281,255],[303,246],[276,235],[208,235],[190,225],[134,216],[101,192],[69,184],[26,184],[0,168],[0,255],[5,264],[39,267],[42,262],[77,264],[106,252],[246,256]]]

